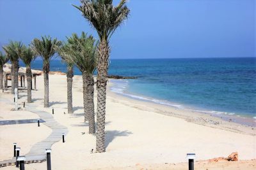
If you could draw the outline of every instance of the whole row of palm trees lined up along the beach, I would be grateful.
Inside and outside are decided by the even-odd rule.
[[[117,6],[113,6],[112,0],[81,0],[80,6],[75,6],[82,12],[83,17],[92,25],[99,36],[99,44],[95,43],[93,36],[87,36],[82,32],[81,37],[72,34],[67,42],[62,43],[57,39],[42,37],[33,39],[31,45],[26,48],[20,42],[10,42],[4,46],[8,59],[12,62],[12,92],[18,87],[19,56],[26,64],[27,81],[31,82],[30,63],[35,56],[43,59],[44,71],[44,107],[49,107],[49,71],[50,61],[55,53],[58,53],[67,64],[67,98],[68,113],[72,113],[72,77],[73,66],[77,66],[83,74],[83,104],[84,121],[89,122],[89,132],[95,133],[94,113],[94,80],[93,73],[97,68],[97,129],[96,152],[105,152],[105,118],[106,118],[106,86],[108,82],[108,67],[110,46],[109,39],[115,30],[127,19],[129,9],[127,1],[121,0]],[[24,50],[26,49],[26,50]],[[0,62],[1,64],[1,62]],[[30,71],[29,71],[30,69]],[[28,87],[31,87],[28,85]],[[28,90],[29,91],[29,90]],[[31,91],[30,91],[31,93]],[[28,96],[31,96],[28,92]],[[31,101],[28,97],[28,101]]]

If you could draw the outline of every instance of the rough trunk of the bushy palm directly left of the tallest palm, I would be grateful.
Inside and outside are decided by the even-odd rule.
[[[89,134],[95,133],[95,114],[94,114],[94,79],[92,75],[86,76],[86,106],[87,106],[87,115],[89,119]]]

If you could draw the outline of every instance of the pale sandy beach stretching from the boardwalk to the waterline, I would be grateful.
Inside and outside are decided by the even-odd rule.
[[[106,152],[91,153],[92,149],[95,150],[95,136],[88,134],[88,124],[83,122],[81,76],[74,76],[73,114],[64,114],[67,113],[66,76],[51,74],[49,78],[50,108],[43,106],[43,76],[37,78],[38,90],[33,90],[31,105],[49,114],[54,108],[54,119],[68,128],[66,142],[59,141],[52,145],[52,169],[187,169],[186,153],[191,152],[196,153],[196,169],[254,169],[256,166],[255,127],[227,122],[203,113],[136,101],[114,94],[109,88]],[[7,92],[1,93],[0,98],[13,101],[12,94]],[[21,90],[20,106],[24,101],[26,91]],[[0,106],[1,120],[38,118],[26,108],[10,111],[14,108],[12,102],[6,104],[1,101]],[[2,125],[1,160],[12,157],[13,142],[19,140],[22,154],[26,154],[31,145],[50,133],[51,129],[43,124],[41,127],[35,124]],[[208,160],[227,157],[232,152],[238,152],[238,162]],[[45,168],[46,162],[26,164],[26,169]],[[15,166],[2,169],[15,169]]]

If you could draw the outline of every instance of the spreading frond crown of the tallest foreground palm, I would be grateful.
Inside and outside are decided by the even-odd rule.
[[[121,0],[117,6],[113,6],[112,0],[81,0],[80,6],[73,6],[95,28],[100,40],[109,40],[129,15],[130,10],[126,3],[127,0]]]

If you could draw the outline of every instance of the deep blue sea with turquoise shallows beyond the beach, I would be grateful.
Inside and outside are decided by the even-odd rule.
[[[21,64],[22,66],[22,64]],[[41,69],[36,60],[33,69]],[[66,71],[52,60],[51,71]],[[75,69],[75,74],[81,74]],[[256,118],[256,58],[111,60],[113,92],[155,103],[216,114]]]

